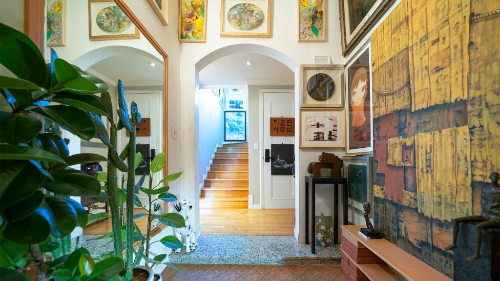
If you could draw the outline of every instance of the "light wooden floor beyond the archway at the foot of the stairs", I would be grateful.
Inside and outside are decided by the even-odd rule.
[[[293,235],[295,209],[201,208],[201,234]]]

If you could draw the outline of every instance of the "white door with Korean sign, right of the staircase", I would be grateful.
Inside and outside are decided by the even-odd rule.
[[[269,149],[272,155],[271,144],[293,144],[293,136],[270,136],[270,117],[293,117],[294,109],[293,90],[263,91],[263,151]],[[276,159],[264,161],[264,208],[266,209],[293,209],[295,208],[295,187],[293,175],[271,174],[271,165]]]

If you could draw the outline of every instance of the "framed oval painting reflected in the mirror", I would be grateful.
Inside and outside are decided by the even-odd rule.
[[[114,1],[88,0],[88,39],[90,41],[139,38],[139,29]]]

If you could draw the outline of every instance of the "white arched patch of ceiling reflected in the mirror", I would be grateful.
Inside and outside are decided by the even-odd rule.
[[[156,66],[149,65],[151,62]],[[163,63],[141,55],[116,55],[90,66],[116,83],[118,79],[126,85],[159,85],[163,83]]]

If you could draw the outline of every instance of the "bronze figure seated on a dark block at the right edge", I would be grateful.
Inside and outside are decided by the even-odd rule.
[[[458,235],[458,225],[460,222],[479,222],[477,227],[477,241],[475,254],[469,256],[467,261],[475,261],[481,258],[480,249],[482,242],[482,229],[500,227],[500,188],[498,179],[500,174],[496,171],[489,175],[491,186],[485,186],[481,190],[481,215],[468,215],[455,218],[453,226],[453,243],[445,248],[450,250],[456,248],[456,236]]]

